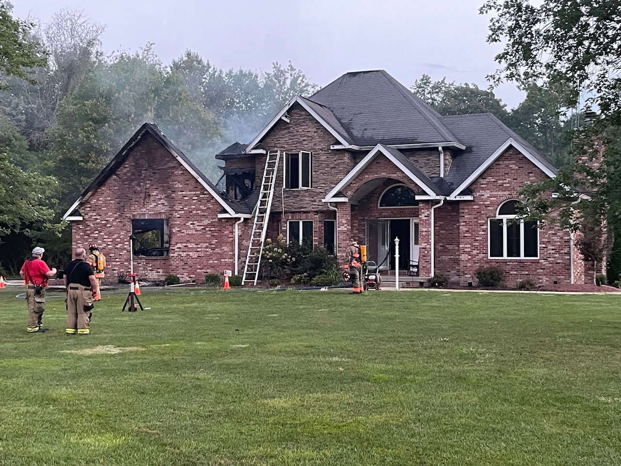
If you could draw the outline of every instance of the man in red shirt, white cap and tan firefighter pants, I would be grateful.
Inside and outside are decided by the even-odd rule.
[[[43,262],[45,249],[35,247],[32,250],[32,257],[24,262],[19,275],[24,277],[26,282],[26,302],[28,303],[28,327],[29,332],[45,332],[41,324],[43,311],[45,311],[45,288],[47,279],[56,275],[56,268],[52,270]]]

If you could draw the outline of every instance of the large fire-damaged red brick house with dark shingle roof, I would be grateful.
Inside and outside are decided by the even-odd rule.
[[[312,241],[339,259],[355,237],[387,275],[399,237],[399,270],[422,278],[466,285],[479,266],[497,265],[510,285],[584,283],[569,231],[512,221],[517,192],[555,176],[552,163],[491,114],[440,116],[382,70],[291,99],[249,144],[216,155],[222,188],[144,124],[63,217],[73,246],[97,242],[109,280],[129,269],[130,234],[142,276],[241,275],[276,150],[267,237]]]

